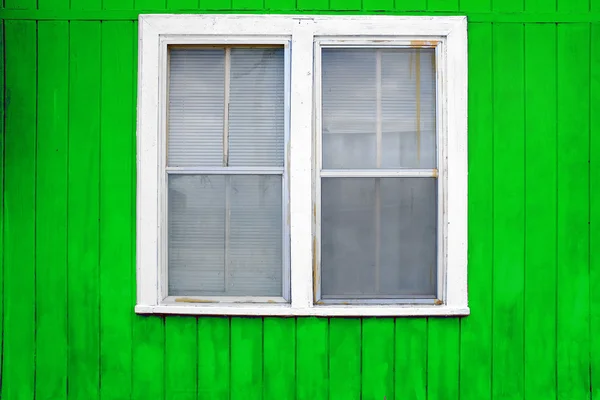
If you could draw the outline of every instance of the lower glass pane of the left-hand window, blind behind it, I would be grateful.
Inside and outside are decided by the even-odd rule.
[[[281,176],[169,176],[169,295],[281,296]]]

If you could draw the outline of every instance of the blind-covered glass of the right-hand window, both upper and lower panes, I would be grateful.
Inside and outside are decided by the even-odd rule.
[[[322,172],[336,171],[320,186],[321,298],[432,299],[434,50],[325,47],[321,60]],[[384,169],[404,177],[378,177]]]

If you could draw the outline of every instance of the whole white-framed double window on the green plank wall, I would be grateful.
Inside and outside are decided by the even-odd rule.
[[[140,16],[138,313],[466,315],[464,17]]]

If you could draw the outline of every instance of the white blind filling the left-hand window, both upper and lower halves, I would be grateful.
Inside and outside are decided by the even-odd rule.
[[[169,82],[169,295],[282,296],[283,47],[171,49]]]

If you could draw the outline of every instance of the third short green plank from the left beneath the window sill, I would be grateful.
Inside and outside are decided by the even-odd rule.
[[[198,399],[229,399],[230,319],[198,318]]]

